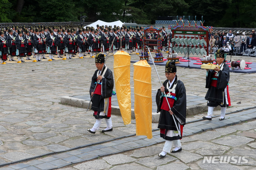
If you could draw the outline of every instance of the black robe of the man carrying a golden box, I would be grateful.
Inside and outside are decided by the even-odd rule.
[[[214,70],[208,70],[206,75],[206,88],[208,88],[208,91],[205,96],[205,99],[208,100],[207,106],[231,106],[228,82],[229,66],[226,63],[224,63],[223,67],[220,67],[220,71],[218,73]]]

